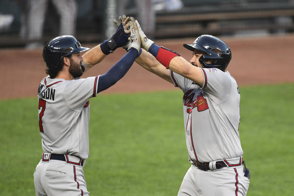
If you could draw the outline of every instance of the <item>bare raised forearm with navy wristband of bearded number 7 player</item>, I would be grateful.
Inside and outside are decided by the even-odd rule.
[[[91,48],[83,54],[83,66],[85,67],[85,71],[100,63],[108,54],[113,53],[116,48],[129,43],[128,34],[130,33],[130,30],[128,30],[128,20],[129,17],[124,16],[123,20],[120,18],[120,24],[117,25],[118,29],[116,33],[114,33],[108,40],[103,41],[103,43]]]

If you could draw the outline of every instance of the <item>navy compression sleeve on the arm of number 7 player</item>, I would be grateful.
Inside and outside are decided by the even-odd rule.
[[[119,81],[131,68],[137,56],[138,51],[135,48],[130,48],[117,63],[99,77],[97,93],[106,90]]]

